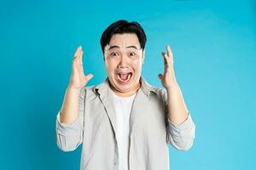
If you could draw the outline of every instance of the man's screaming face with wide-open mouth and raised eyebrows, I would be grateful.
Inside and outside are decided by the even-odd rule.
[[[114,34],[104,49],[105,67],[112,88],[131,93],[139,86],[144,51],[134,33]]]

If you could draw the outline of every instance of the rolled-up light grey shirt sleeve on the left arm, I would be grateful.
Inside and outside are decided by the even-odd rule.
[[[72,123],[60,121],[61,111],[58,111],[55,122],[55,133],[57,146],[63,151],[76,150],[83,142],[84,133],[84,96],[85,89],[79,94],[79,116]]]

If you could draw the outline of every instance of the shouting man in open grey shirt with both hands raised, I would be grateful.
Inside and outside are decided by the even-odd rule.
[[[85,87],[83,49],[77,48],[72,75],[56,120],[57,145],[75,150],[83,144],[80,169],[167,170],[167,144],[189,150],[195,124],[176,82],[172,50],[163,53],[164,88],[142,77],[146,35],[137,22],[119,20],[102,33],[108,77]]]

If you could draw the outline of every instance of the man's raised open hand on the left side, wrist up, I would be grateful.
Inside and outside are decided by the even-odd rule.
[[[79,46],[73,55],[72,74],[68,84],[69,88],[83,88],[93,77],[92,74],[88,74],[87,76],[84,75],[83,53],[82,47]]]

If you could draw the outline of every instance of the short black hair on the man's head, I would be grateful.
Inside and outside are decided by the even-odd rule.
[[[113,35],[124,33],[135,33],[138,37],[141,48],[145,48],[147,37],[143,30],[143,27],[136,21],[128,22],[127,20],[118,20],[108,26],[108,28],[102,33],[101,46],[103,54],[104,48],[109,44]]]

